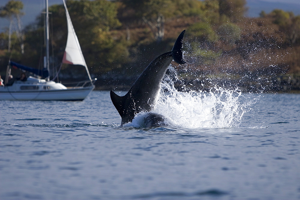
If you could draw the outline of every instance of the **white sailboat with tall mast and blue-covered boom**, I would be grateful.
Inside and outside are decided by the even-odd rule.
[[[49,80],[49,11],[48,0],[46,0],[46,55],[44,57],[44,69],[33,69],[13,61],[9,61],[6,72],[4,87],[0,87],[0,100],[64,100],[64,101],[80,101],[84,100],[92,90],[94,90],[94,82],[85,63],[78,38],[73,28],[69,12],[65,0],[64,8],[67,16],[67,44],[64,51],[62,63],[71,65],[82,65],[85,67],[89,80],[80,81],[75,87],[66,87],[61,83]],[[29,76],[26,81],[16,80],[12,84],[9,83],[11,67],[19,68],[23,71],[34,74]]]

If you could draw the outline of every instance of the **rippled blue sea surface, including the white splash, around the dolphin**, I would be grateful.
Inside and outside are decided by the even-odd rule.
[[[1,101],[0,199],[300,199],[300,95],[225,93],[159,99],[155,128],[108,91]]]

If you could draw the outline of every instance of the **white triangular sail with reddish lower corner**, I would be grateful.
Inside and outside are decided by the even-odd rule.
[[[67,9],[66,2],[64,2],[64,8],[66,10],[67,16],[67,26],[68,26],[68,37],[67,37],[67,45],[64,50],[64,57],[62,59],[62,63],[73,64],[73,65],[83,65],[88,73],[88,77],[91,80],[91,75],[88,71],[88,67],[86,66],[78,38],[76,36],[75,30],[73,28],[73,24],[71,22],[71,18]]]

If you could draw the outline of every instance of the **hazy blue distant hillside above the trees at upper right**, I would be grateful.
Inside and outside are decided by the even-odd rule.
[[[264,10],[266,13],[274,9],[281,9],[284,11],[292,11],[295,15],[300,15],[300,3],[280,3],[262,0],[247,0],[248,16],[258,17],[259,13]]]

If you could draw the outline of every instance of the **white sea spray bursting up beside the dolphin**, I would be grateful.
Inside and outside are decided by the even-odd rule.
[[[242,95],[236,89],[225,89],[215,85],[210,91],[195,91],[175,88],[179,81],[176,70],[170,66],[172,75],[165,75],[161,84],[153,113],[163,115],[167,123],[176,128],[232,128],[237,127],[245,112],[257,99]],[[125,126],[143,127],[146,113],[138,113],[131,123]]]

